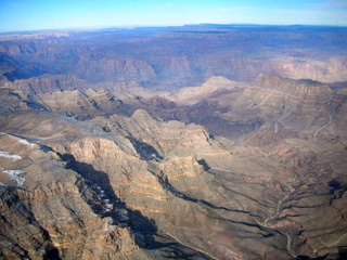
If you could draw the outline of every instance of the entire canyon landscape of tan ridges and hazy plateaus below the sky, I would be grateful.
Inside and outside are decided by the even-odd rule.
[[[0,258],[344,259],[347,29],[0,35]]]

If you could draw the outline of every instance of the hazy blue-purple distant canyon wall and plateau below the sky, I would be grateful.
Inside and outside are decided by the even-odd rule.
[[[8,79],[28,89],[29,82],[21,79],[43,77],[35,83],[49,92],[105,81],[136,81],[169,90],[201,86],[211,76],[252,82],[259,74],[322,82],[347,80],[344,28],[187,26],[142,30],[8,37],[0,41],[0,83]],[[59,75],[72,75],[70,83],[56,79]]]

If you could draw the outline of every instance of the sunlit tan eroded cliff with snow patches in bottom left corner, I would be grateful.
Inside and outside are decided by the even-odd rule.
[[[105,216],[113,206],[103,190],[46,146],[0,139],[2,258],[146,258],[129,230]]]

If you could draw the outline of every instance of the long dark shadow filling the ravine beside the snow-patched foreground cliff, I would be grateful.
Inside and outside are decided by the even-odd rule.
[[[92,188],[92,184],[98,184],[105,191],[110,203],[115,206],[114,210],[111,212],[102,212],[99,207],[95,207],[92,200],[88,200],[87,203],[97,214],[111,217],[115,224],[120,227],[127,227],[139,247],[158,249],[165,258],[191,259],[192,257],[197,257],[200,259],[210,259],[202,252],[195,251],[169,237],[158,234],[157,225],[153,219],[146,218],[139,210],[130,209],[126,203],[121,202],[120,198],[116,196],[107,173],[95,170],[92,165],[77,161],[72,154],[59,154],[59,156],[62,160],[66,161],[67,168],[76,171],[85,179],[90,188]],[[163,242],[155,240],[155,236],[162,237]],[[52,251],[52,253],[54,252],[55,251]]]

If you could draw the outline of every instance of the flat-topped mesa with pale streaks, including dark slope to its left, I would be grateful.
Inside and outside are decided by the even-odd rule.
[[[262,131],[264,123],[273,128],[275,135],[284,128],[282,138],[329,140],[346,134],[346,95],[318,81],[260,75],[250,86],[217,88],[211,94],[200,92],[200,88],[196,91],[201,93],[200,102],[171,113],[180,120],[203,125],[214,135],[255,136],[250,133]]]

